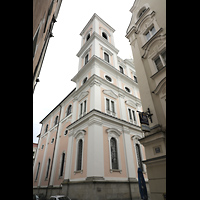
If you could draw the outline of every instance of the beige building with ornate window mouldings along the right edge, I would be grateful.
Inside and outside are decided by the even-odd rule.
[[[127,29],[144,112],[150,132],[145,147],[151,200],[166,199],[166,1],[135,0]]]

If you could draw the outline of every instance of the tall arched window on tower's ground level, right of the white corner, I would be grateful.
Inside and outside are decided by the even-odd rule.
[[[117,156],[117,141],[115,138],[110,139],[110,151],[111,151],[112,169],[119,169],[118,156]]]

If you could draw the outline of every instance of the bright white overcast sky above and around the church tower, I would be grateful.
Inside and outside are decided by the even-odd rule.
[[[122,59],[132,58],[125,37],[135,0],[63,0],[49,41],[39,80],[33,94],[33,142],[40,133],[39,122],[76,87],[71,79],[78,72],[80,32],[94,13],[115,29],[114,42]]]

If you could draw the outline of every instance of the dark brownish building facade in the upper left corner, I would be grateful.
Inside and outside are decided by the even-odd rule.
[[[33,92],[62,0],[33,0]]]

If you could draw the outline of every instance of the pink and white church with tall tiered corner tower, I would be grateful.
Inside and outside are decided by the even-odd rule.
[[[76,88],[40,122],[36,194],[140,199],[138,167],[148,188],[135,67],[117,56],[114,31],[94,14],[80,33]]]

